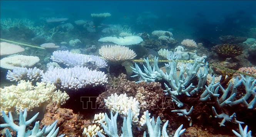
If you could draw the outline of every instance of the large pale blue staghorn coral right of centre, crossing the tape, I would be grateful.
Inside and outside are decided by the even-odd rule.
[[[170,52],[170,54],[167,56],[168,60],[176,60],[178,55],[174,55],[173,52]],[[181,94],[186,94],[187,96],[190,96],[189,92],[191,90],[193,90],[194,86],[191,83],[191,80],[197,75],[197,72],[201,66],[201,64],[199,64],[196,60],[194,61],[193,64],[191,63],[187,63],[186,65],[186,77],[184,76],[185,73],[185,67],[184,64],[181,65],[180,67],[180,71],[179,71],[179,75],[177,74],[177,70],[176,70],[176,66],[177,66],[177,62],[169,62],[168,64],[166,64],[166,67],[168,67],[170,69],[169,74],[166,72],[166,74],[159,69],[158,67],[158,58],[154,58],[154,67],[153,69],[151,68],[151,66],[149,65],[149,60],[144,59],[147,67],[145,65],[143,65],[144,67],[144,72],[141,71],[141,69],[139,68],[139,66],[135,63],[135,68],[133,69],[133,72],[136,75],[133,75],[131,77],[137,77],[140,76],[142,80],[141,81],[145,81],[145,82],[154,82],[156,79],[161,80],[164,79],[166,80],[168,83],[168,85],[171,86],[171,88],[168,87],[168,85],[165,83],[165,87],[166,90],[164,90],[164,92],[166,92],[166,95],[169,95],[172,97],[173,101],[176,102],[176,104],[178,105],[178,107],[182,107],[183,104],[182,102],[180,102],[176,96],[181,95]],[[205,68],[207,68],[207,64],[205,65]],[[201,89],[202,85],[204,85],[206,83],[206,75],[208,74],[208,71],[204,70],[204,71],[200,71],[200,73],[197,75],[197,77],[199,77],[199,84],[197,85],[197,89]]]

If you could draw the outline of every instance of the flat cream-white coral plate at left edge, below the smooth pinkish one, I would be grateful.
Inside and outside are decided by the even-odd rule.
[[[14,67],[32,67],[39,62],[37,56],[13,55],[0,60],[0,67],[12,70]]]

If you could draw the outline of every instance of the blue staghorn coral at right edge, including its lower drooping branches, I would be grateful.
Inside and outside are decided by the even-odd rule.
[[[240,76],[242,77],[242,79],[239,79],[239,77],[236,77],[236,80],[234,80],[233,83],[230,82],[226,89],[224,89],[221,86],[221,84],[219,84],[219,82],[215,84],[214,82],[215,80],[213,77],[211,84],[208,86],[205,86],[206,90],[201,94],[201,98],[200,98],[201,101],[213,100],[213,102],[215,103],[214,106],[217,109],[222,110],[222,114],[217,114],[215,107],[212,107],[212,111],[215,117],[223,119],[222,122],[219,123],[220,126],[224,126],[224,123],[226,121],[243,124],[243,122],[236,120],[236,113],[234,113],[231,116],[229,116],[228,114],[225,114],[224,107],[226,106],[232,107],[234,105],[243,103],[244,105],[246,105],[248,109],[255,108],[256,79],[249,76],[246,76],[246,77],[244,77],[243,75],[240,75]],[[240,99],[236,100],[236,95],[238,94],[238,87],[242,84],[245,87],[246,94],[243,95]],[[219,89],[223,92],[221,97],[219,97],[220,94],[218,94]],[[230,96],[228,97],[228,95]],[[250,100],[250,98],[253,98],[253,99]],[[248,104],[248,101],[250,101],[249,104]]]

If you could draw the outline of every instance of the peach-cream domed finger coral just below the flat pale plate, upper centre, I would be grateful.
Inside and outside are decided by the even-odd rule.
[[[131,60],[136,57],[136,53],[133,50],[120,45],[103,45],[99,49],[99,53],[110,62]]]

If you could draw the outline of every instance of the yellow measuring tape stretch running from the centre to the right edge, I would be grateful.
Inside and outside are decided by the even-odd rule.
[[[132,60],[133,62],[145,62],[144,60]],[[194,60],[158,60],[158,62],[182,62],[182,63],[194,63]],[[149,62],[154,62],[154,60],[149,60]],[[202,64],[206,64],[204,62],[199,62],[197,61],[198,63],[202,63]],[[228,69],[228,68],[225,68],[225,67],[221,67],[221,66],[218,66],[218,65],[213,65],[213,64],[209,64],[209,66],[212,66],[212,67],[216,67],[216,68],[219,68],[221,70],[226,70],[226,71],[229,71],[229,72],[234,72],[234,73],[238,73],[238,74],[242,74],[242,75],[248,75],[250,77],[254,77],[256,78],[256,75],[252,75],[252,74],[247,74],[247,73],[244,73],[244,72],[241,72],[241,71],[237,71],[237,70],[233,70],[233,69]]]

